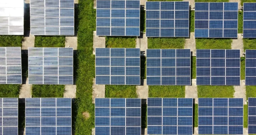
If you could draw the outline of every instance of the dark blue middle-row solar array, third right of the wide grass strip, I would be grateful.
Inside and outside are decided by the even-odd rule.
[[[240,50],[197,49],[197,85],[240,85]]]

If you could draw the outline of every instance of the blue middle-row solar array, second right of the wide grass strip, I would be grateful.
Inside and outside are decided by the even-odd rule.
[[[190,49],[147,49],[147,85],[191,85]]]

